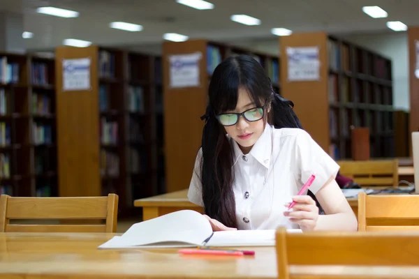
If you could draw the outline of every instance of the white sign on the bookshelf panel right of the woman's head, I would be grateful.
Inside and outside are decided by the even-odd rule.
[[[288,82],[320,80],[318,47],[287,47]]]

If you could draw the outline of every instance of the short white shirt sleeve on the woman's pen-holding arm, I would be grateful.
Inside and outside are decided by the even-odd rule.
[[[316,179],[309,187],[311,193],[316,194],[320,188],[330,179],[336,177],[339,165],[315,142],[309,133],[301,130],[296,139],[297,168],[300,169],[301,181],[306,183],[311,174]]]

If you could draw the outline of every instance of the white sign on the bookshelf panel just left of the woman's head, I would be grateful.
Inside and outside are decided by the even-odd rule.
[[[192,87],[200,85],[199,63],[202,54],[177,54],[169,57],[170,87]]]

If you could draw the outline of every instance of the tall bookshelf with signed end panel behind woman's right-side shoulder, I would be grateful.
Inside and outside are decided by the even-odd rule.
[[[335,160],[352,157],[351,129],[369,128],[371,158],[395,156],[391,61],[327,33],[279,38],[281,94]],[[320,76],[288,82],[288,47],[318,47]]]

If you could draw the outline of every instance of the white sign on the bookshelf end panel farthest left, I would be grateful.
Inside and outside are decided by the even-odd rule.
[[[63,59],[63,91],[90,90],[90,59]]]

